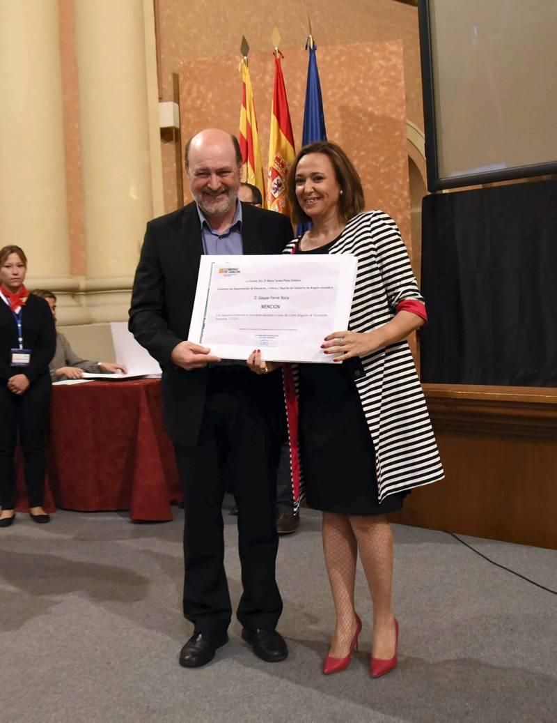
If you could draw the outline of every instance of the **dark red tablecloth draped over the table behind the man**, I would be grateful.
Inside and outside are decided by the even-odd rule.
[[[181,500],[160,380],[54,386],[47,452],[47,511],[129,510],[132,520],[163,522],[172,519],[170,502]]]

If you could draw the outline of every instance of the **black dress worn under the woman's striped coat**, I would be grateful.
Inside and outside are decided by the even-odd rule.
[[[335,239],[336,241],[336,239]],[[300,254],[323,254],[334,244]],[[334,331],[334,330],[332,330]],[[300,448],[308,505],[347,515],[382,515],[405,495],[379,504],[374,444],[350,364],[298,364]]]

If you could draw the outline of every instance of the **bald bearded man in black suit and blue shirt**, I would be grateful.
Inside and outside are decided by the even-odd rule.
[[[228,641],[232,615],[223,565],[223,476],[233,474],[243,594],[242,637],[267,662],[288,649],[275,627],[276,466],[280,374],[254,375],[185,341],[202,254],[278,254],[292,239],[288,218],[238,200],[242,158],[236,137],[207,129],[186,146],[194,202],[147,223],[134,280],[129,328],[163,369],[165,425],[184,493],[183,614],[194,634],[180,654],[199,667]]]

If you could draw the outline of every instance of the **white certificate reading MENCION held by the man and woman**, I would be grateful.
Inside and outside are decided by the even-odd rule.
[[[348,327],[351,254],[202,256],[188,341],[221,359],[330,363],[321,344]]]

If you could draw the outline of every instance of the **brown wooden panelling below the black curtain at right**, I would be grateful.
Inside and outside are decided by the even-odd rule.
[[[424,391],[446,478],[392,521],[557,549],[557,389]]]

